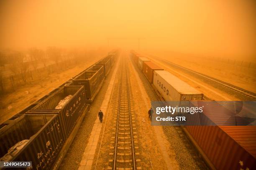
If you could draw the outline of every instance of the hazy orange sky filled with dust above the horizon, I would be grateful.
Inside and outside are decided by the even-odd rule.
[[[253,0],[1,0],[0,48],[110,47],[256,56]]]

